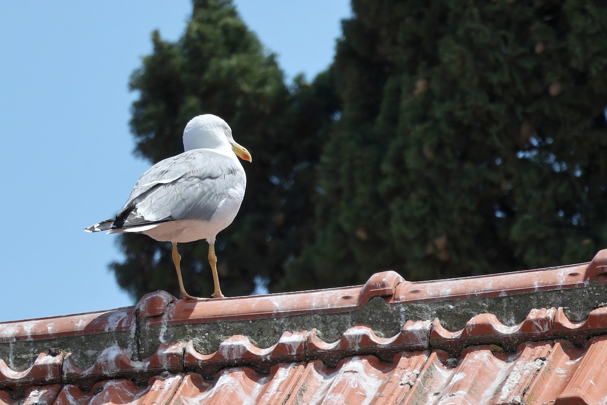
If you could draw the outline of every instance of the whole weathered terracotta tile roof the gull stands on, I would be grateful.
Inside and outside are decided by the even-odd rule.
[[[3,322],[0,403],[603,404],[605,267]]]

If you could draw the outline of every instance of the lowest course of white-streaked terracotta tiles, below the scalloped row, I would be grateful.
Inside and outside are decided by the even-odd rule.
[[[103,379],[90,389],[51,384],[30,389],[24,398],[56,396],[47,403],[58,404],[176,403],[177,398],[180,403],[222,405],[246,403],[236,398],[306,404],[343,403],[344,398],[348,403],[594,404],[607,395],[606,378],[596,369],[597,362],[607,361],[605,347],[606,338],[600,337],[585,349],[556,341],[527,342],[515,353],[496,352],[488,345],[470,347],[458,358],[442,350],[403,352],[391,362],[349,356],[336,367],[318,359],[279,363],[267,374],[252,367],[223,368],[212,379],[195,372],[164,373],[143,386],[120,378]],[[7,392],[0,400],[17,403]]]

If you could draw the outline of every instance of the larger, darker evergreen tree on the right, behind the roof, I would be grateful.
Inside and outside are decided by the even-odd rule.
[[[322,151],[319,228],[285,288],[388,267],[407,279],[541,267],[605,247],[605,7],[353,10],[334,61],[342,119]]]

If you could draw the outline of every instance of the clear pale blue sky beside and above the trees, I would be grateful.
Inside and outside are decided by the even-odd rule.
[[[288,78],[328,66],[350,15],[347,0],[235,4]],[[0,321],[133,304],[107,270],[115,237],[83,228],[150,165],[132,155],[127,83],[152,30],[176,40],[190,13],[189,0],[0,3]]]

